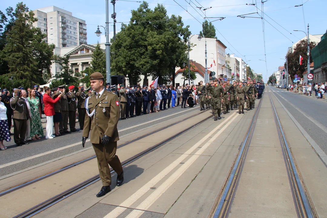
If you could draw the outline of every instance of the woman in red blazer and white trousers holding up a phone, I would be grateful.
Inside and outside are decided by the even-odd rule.
[[[55,115],[55,110],[53,109],[53,107],[60,100],[64,92],[62,92],[56,99],[53,100],[50,97],[50,93],[51,93],[50,87],[46,87],[44,90],[43,103],[44,103],[44,114],[46,116],[46,134],[45,134],[46,139],[53,139],[53,137],[55,137],[55,135],[53,135],[53,115]]]

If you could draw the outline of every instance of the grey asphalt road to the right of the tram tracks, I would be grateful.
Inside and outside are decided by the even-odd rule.
[[[327,154],[327,102],[314,97],[289,92],[285,89],[271,86],[269,88],[310,137]],[[265,89],[265,91],[268,91],[268,89]]]

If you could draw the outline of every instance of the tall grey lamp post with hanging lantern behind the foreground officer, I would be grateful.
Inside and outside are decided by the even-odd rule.
[[[103,27],[103,26],[102,26]],[[111,69],[110,69],[110,41],[109,41],[109,0],[106,0],[106,27],[103,27],[106,32],[106,83],[111,83]],[[102,32],[99,29],[95,31],[96,36],[100,36]]]

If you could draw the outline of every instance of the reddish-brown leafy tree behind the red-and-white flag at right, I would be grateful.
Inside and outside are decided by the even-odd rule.
[[[316,42],[310,42],[310,63],[313,59],[311,56],[311,50],[316,47]],[[287,54],[287,63],[288,63],[288,74],[291,76],[291,79],[294,79],[294,75],[297,74],[299,77],[303,77],[302,74],[307,71],[307,62],[308,62],[308,41],[301,40],[292,54]],[[302,65],[300,65],[300,55],[302,56]],[[285,57],[286,58],[286,57]],[[286,69],[286,62],[284,63]]]

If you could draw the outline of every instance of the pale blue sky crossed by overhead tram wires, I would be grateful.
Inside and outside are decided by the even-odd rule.
[[[327,17],[325,9],[327,8],[326,0],[268,0],[264,3],[265,21],[265,60],[263,25],[262,20],[258,18],[240,18],[237,15],[258,12],[261,15],[262,4],[260,0],[149,0],[149,7],[154,8],[157,3],[165,4],[168,15],[180,15],[184,25],[190,25],[192,34],[198,34],[202,29],[203,17],[226,17],[222,21],[215,21],[216,36],[228,48],[226,53],[235,53],[236,56],[245,59],[256,73],[263,73],[266,80],[272,72],[276,71],[278,66],[284,64],[284,58],[287,48],[292,46],[304,37],[303,32],[294,32],[293,29],[307,31],[306,25],[310,25],[310,34],[324,34],[327,28]],[[246,5],[256,3],[255,6]],[[93,1],[50,1],[50,0],[26,0],[23,2],[33,10],[47,6],[56,6],[71,11],[73,16],[86,21],[88,30],[88,43],[96,43],[100,38],[96,37],[95,30],[97,25],[105,25],[105,0]],[[189,4],[190,3],[190,4]],[[302,7],[294,7],[301,5]],[[0,10],[5,11],[9,6],[15,7],[17,2],[4,0],[0,5]],[[131,16],[130,11],[137,9],[140,3],[130,1],[116,1],[117,22],[128,22]],[[193,7],[190,7],[193,6]],[[203,11],[201,8],[209,8]],[[303,9],[303,10],[302,10]],[[112,14],[112,4],[109,5],[109,13]],[[303,12],[305,24],[303,19]],[[205,13],[205,14],[204,14]],[[192,17],[192,15],[194,17]],[[259,17],[257,14],[247,16]],[[269,17],[271,18],[269,18]],[[197,20],[196,20],[197,19]],[[215,20],[214,18],[210,19]],[[112,22],[112,18],[110,18]],[[199,23],[200,22],[200,23]],[[277,23],[276,23],[277,22]],[[271,25],[270,25],[270,24]],[[277,30],[276,30],[276,29]],[[120,24],[117,23],[116,31],[120,30]],[[113,31],[113,26],[110,26]],[[219,32],[218,32],[219,31]],[[278,32],[280,31],[280,32]],[[102,32],[104,32],[102,30]],[[290,34],[292,33],[292,34]],[[284,34],[284,35],[282,35]],[[244,57],[245,56],[245,57]],[[260,60],[261,59],[261,60]]]

